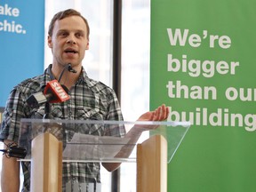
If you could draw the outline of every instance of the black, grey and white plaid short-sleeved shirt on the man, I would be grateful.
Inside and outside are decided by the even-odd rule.
[[[15,86],[4,109],[4,119],[0,132],[0,140],[18,142],[21,118],[43,118],[44,104],[39,108],[30,108],[26,102],[35,92],[44,91],[45,85],[52,80],[52,65],[44,74],[27,79]],[[90,79],[84,68],[76,84],[69,90],[70,100],[52,104],[50,116],[54,119],[68,120],[116,120],[123,121],[116,93],[107,85]],[[102,135],[102,132],[98,132]],[[122,137],[122,127],[105,130],[104,135]],[[23,191],[29,191],[30,164],[22,163],[24,173]],[[63,189],[67,182],[100,182],[100,164],[98,163],[65,163],[62,170]]]

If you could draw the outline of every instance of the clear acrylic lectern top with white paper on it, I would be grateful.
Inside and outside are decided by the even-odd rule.
[[[22,161],[31,158],[31,141],[36,136],[48,132],[63,143],[63,161],[76,162],[136,162],[136,153],[126,158],[116,157],[116,153],[124,146],[135,147],[138,142],[106,136],[106,131],[123,126],[126,132],[136,127],[149,136],[162,135],[168,142],[168,163],[171,162],[181,141],[188,132],[188,122],[120,122],[94,120],[50,120],[21,119],[19,146],[26,148],[27,156]],[[148,138],[140,138],[143,142]],[[86,153],[85,153],[86,152]]]

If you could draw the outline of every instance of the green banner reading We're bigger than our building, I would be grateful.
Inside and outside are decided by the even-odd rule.
[[[170,192],[256,191],[253,0],[151,0],[150,108],[192,125]]]

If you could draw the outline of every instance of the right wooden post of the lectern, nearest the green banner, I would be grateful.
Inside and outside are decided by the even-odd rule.
[[[137,145],[137,192],[167,191],[167,141],[155,135]]]

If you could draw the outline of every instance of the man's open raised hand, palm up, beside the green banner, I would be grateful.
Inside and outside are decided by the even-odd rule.
[[[164,104],[159,106],[154,111],[148,111],[142,114],[138,121],[164,121],[169,116],[169,108],[167,108]]]

